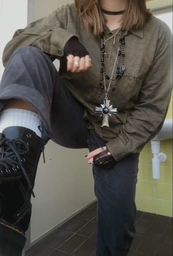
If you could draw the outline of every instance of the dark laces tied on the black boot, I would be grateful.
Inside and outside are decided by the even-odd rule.
[[[24,145],[25,149],[21,149],[20,145]],[[5,171],[9,174],[12,172],[9,168],[9,165],[12,167],[12,170],[14,172],[17,172],[20,169],[27,181],[27,184],[31,190],[33,197],[35,197],[31,181],[28,177],[26,170],[22,165],[22,162],[25,162],[25,158],[23,158],[23,156],[28,152],[29,146],[25,141],[2,138],[2,133],[0,133],[0,166],[4,166]],[[3,170],[1,170],[1,168],[0,175],[3,176]]]

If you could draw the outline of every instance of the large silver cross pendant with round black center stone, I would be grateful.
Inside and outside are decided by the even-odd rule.
[[[116,114],[117,108],[113,108],[112,105],[110,105],[110,100],[104,100],[104,104],[101,104],[101,107],[95,108],[96,114],[101,114],[100,116],[103,116],[103,122],[102,126],[108,126],[109,127],[109,117],[112,116],[112,114]]]

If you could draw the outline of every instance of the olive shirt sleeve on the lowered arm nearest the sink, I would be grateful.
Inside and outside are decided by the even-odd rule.
[[[142,151],[144,145],[161,130],[172,94],[172,42],[165,43],[155,53],[138,102],[121,126],[119,137],[106,144],[116,161],[128,154]]]

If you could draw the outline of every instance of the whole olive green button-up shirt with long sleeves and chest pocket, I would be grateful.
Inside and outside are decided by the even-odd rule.
[[[107,26],[105,33],[106,39],[112,36]],[[105,58],[105,70],[109,76],[117,55],[120,34],[117,34],[114,45],[113,38],[106,41],[108,58]],[[86,72],[67,72],[63,49],[72,36],[77,36],[89,51],[93,68]],[[60,76],[71,94],[84,105],[84,119],[89,123],[88,128],[95,129],[107,141],[106,145],[116,161],[140,152],[161,130],[172,93],[172,33],[161,20],[152,17],[142,29],[125,32],[126,70],[116,89],[108,95],[113,108],[118,110],[116,115],[109,118],[110,127],[101,127],[102,117],[95,114],[95,107],[100,107],[105,98],[99,85],[99,36],[93,35],[93,28],[87,33],[75,4],[62,6],[25,29],[17,30],[4,49],[4,66],[16,48],[21,46],[38,47],[52,60],[60,60]],[[114,83],[110,88],[113,86]]]

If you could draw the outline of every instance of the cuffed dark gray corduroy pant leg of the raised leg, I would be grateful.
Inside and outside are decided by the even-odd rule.
[[[83,108],[64,86],[50,58],[39,48],[18,48],[5,66],[0,83],[0,110],[19,98],[40,115],[44,144],[50,138],[64,147],[87,148]]]

